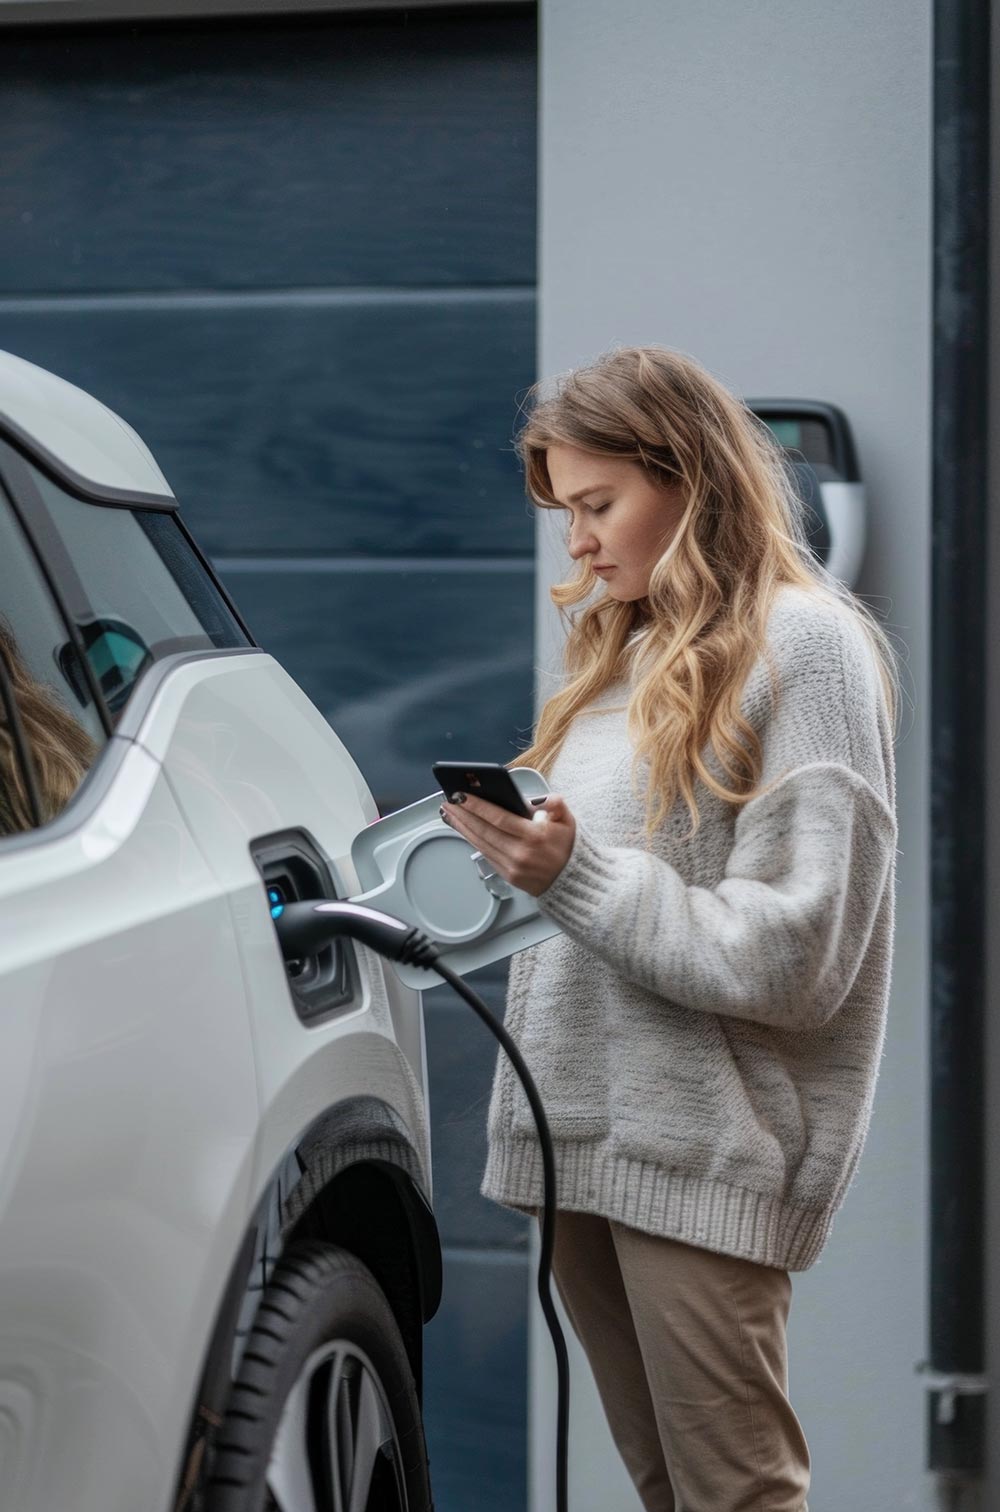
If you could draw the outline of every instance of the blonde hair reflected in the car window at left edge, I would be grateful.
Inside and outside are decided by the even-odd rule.
[[[24,739],[35,767],[42,824],[45,824],[62,813],[80,786],[97,754],[97,745],[62,706],[56,692],[32,677],[11,627],[3,618],[0,618],[0,658],[3,658],[11,691],[17,700]],[[35,829],[9,718],[9,711],[0,694],[0,835],[17,835],[21,830]]]

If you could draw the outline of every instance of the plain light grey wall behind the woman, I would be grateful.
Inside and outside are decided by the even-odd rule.
[[[841,405],[873,511],[855,591],[908,658],[873,1125],[825,1253],[793,1275],[809,1512],[938,1506],[914,1371],[927,1291],[930,21],[912,0],[540,5],[539,372],[661,342],[744,396]],[[561,632],[546,588],[566,559],[551,531],[539,543],[551,668]],[[549,1512],[555,1370],[537,1303],[531,1349],[533,1506]],[[572,1370],[570,1506],[638,1507],[575,1340]]]

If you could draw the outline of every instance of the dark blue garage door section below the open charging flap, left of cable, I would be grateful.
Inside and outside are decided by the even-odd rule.
[[[467,977],[469,986],[501,1021],[508,965],[498,962]],[[526,1252],[530,1220],[480,1196],[486,1166],[486,1114],[499,1046],[448,984],[424,993],[424,1012],[434,1216],[442,1243]]]

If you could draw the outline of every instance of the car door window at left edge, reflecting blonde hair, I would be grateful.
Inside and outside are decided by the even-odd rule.
[[[56,818],[104,745],[70,670],[79,658],[67,626],[0,499],[0,838]]]

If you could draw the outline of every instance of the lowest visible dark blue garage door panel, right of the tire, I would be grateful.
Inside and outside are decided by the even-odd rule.
[[[516,1256],[445,1253],[424,1341],[424,1420],[437,1512],[522,1512],[526,1500],[525,1302]]]

